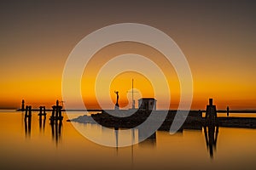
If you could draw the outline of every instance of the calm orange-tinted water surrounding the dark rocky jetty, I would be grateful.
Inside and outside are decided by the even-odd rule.
[[[77,112],[73,117],[81,114],[84,113]],[[174,135],[157,132],[155,138],[143,143],[114,148],[85,139],[71,122],[66,122],[67,115],[61,128],[52,127],[49,115],[40,126],[38,112],[33,112],[29,130],[23,113],[0,111],[1,169],[256,168],[256,130],[253,129],[220,127],[211,157],[203,130],[183,130]],[[109,140],[116,137],[98,125],[74,123],[74,126],[96,134],[100,131]],[[138,133],[134,134],[137,140]],[[125,138],[131,139],[131,133]]]

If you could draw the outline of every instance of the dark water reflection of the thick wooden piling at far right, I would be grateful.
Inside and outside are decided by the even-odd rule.
[[[207,143],[207,150],[210,152],[211,158],[213,158],[213,150],[216,150],[216,144],[218,139],[218,126],[208,125],[204,127],[205,139]]]

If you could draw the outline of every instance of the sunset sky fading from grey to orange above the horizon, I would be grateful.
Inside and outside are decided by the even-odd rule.
[[[256,109],[255,8],[253,1],[1,1],[0,108],[18,108],[21,99],[33,107],[54,105],[62,98],[62,72],[76,44],[104,26],[128,22],[165,32],[183,51],[193,76],[193,109],[205,109],[209,98],[218,109]],[[85,105],[99,107],[96,73],[126,53],[142,54],[163,68],[176,108],[180,87],[172,65],[157,50],[132,42],[112,44],[93,57],[82,79]],[[136,99],[154,95],[147,77],[123,72],[109,85],[111,105],[117,89],[121,108],[131,106],[131,78],[141,93]],[[158,108],[165,99],[157,99]]]

